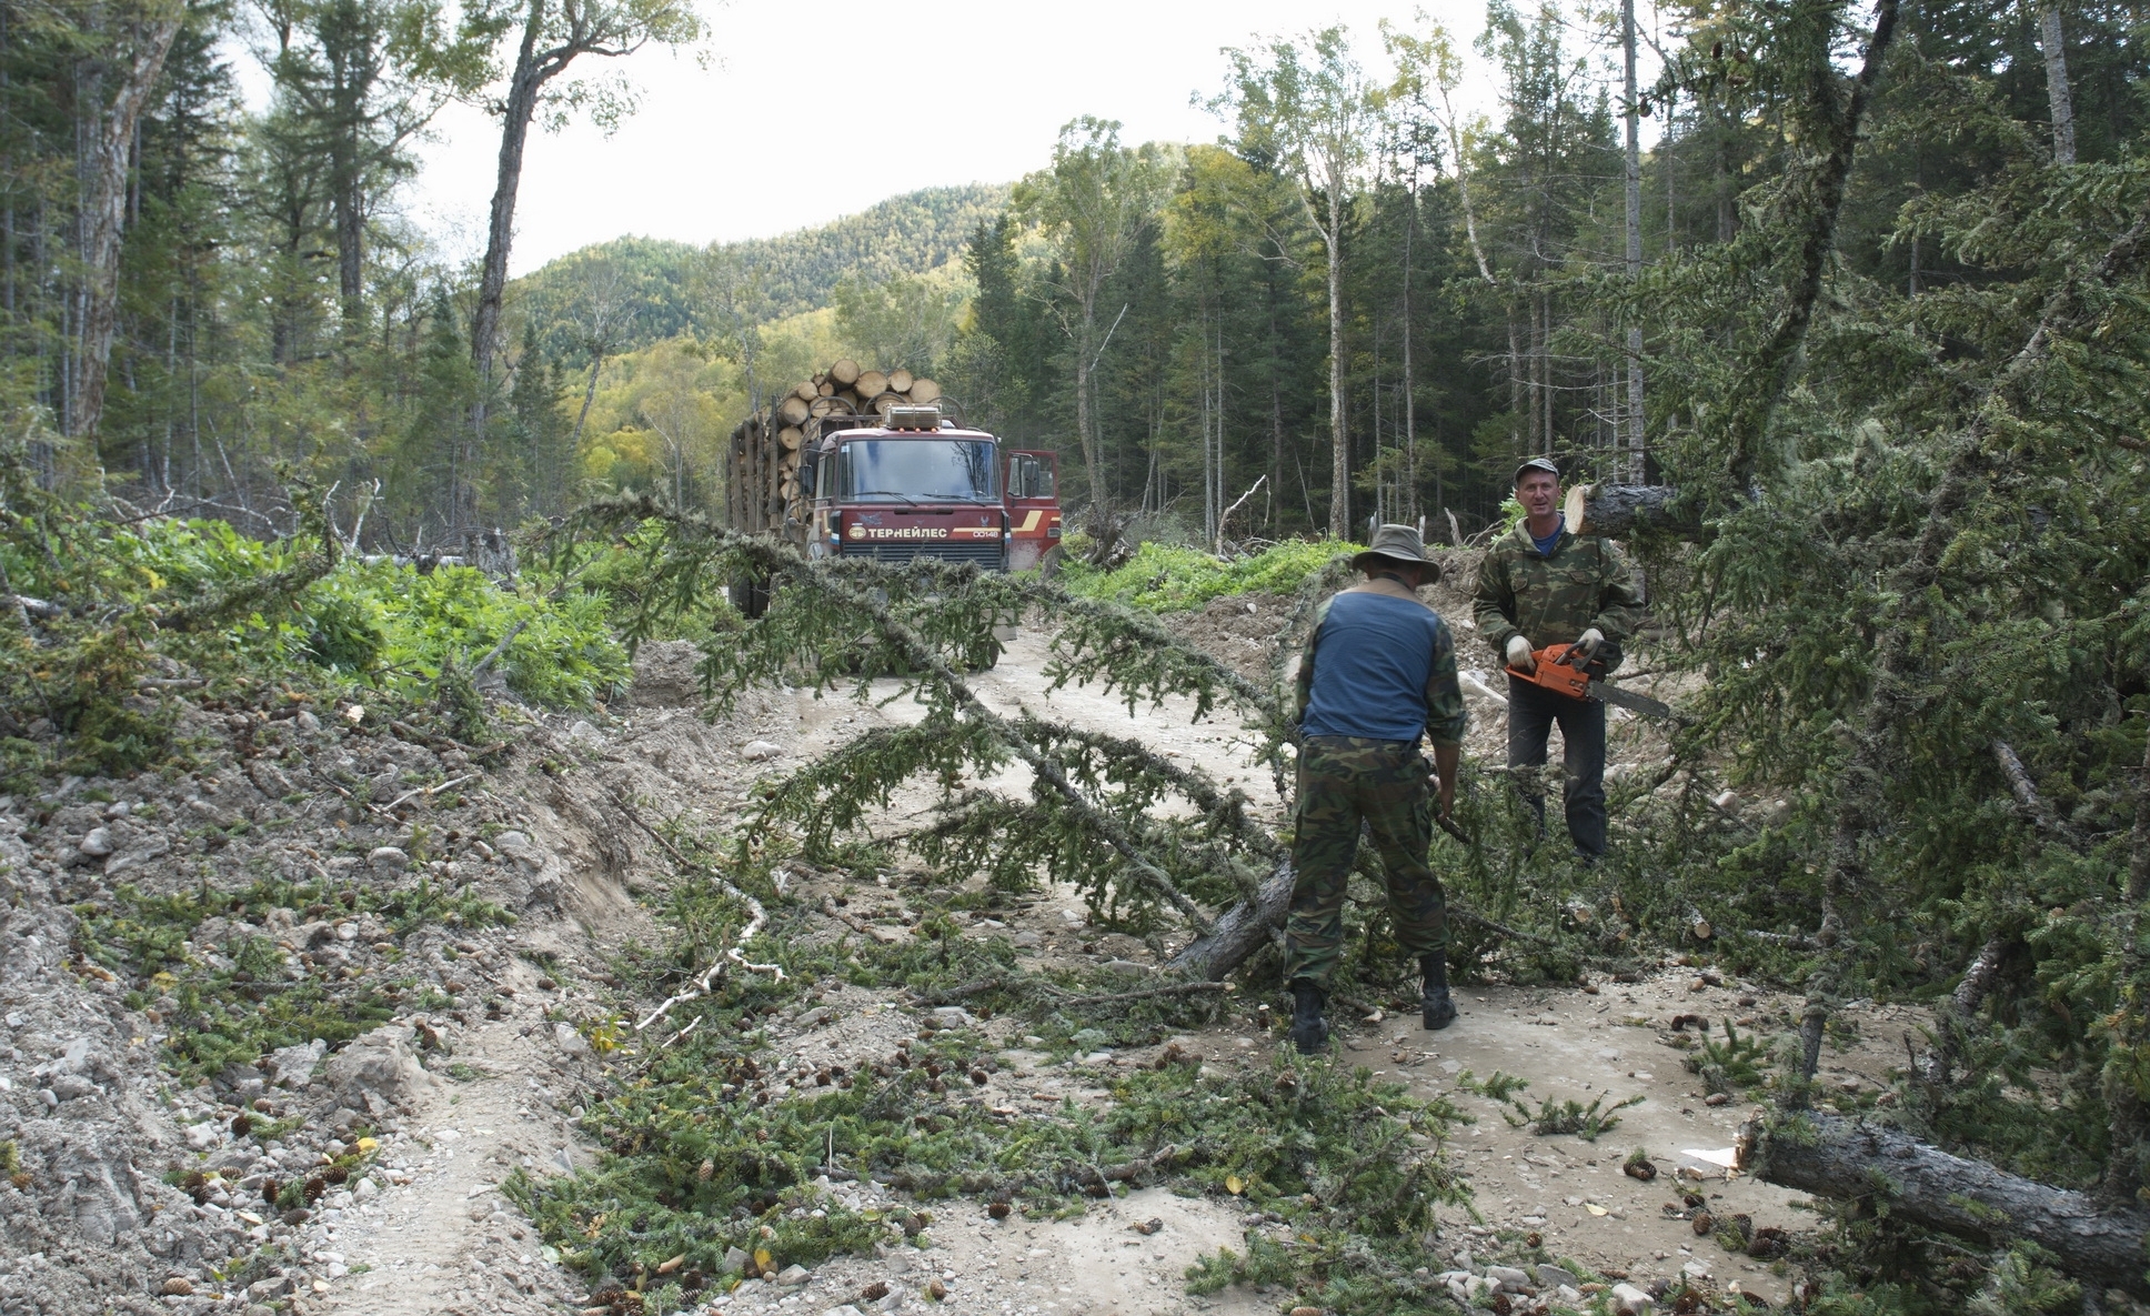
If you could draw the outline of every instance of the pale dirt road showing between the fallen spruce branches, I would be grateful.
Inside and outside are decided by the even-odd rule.
[[[978,695],[1002,712],[1030,707],[1140,738],[1247,791],[1256,811],[1277,821],[1273,781],[1253,763],[1247,733],[1230,720],[1195,723],[1185,701],[1131,712],[1096,688],[1047,692],[1045,658],[1045,636],[1019,636],[998,669],[978,675]],[[877,707],[765,690],[735,716],[707,725],[692,707],[690,664],[684,645],[649,645],[636,664],[632,703],[600,718],[546,718],[518,733],[529,753],[486,785],[492,843],[464,849],[443,871],[510,901],[522,918],[512,929],[471,931],[454,946],[428,950],[445,987],[467,1002],[484,998],[486,1013],[462,1009],[398,1021],[430,1028],[439,1039],[426,1056],[426,1075],[396,1092],[398,1110],[376,1112],[381,1148],[370,1170],[335,1185],[310,1219],[275,1234],[290,1245],[295,1264],[273,1267],[267,1279],[254,1279],[254,1271],[245,1286],[219,1284],[204,1271],[191,1297],[166,1297],[166,1307],[264,1312],[260,1303],[282,1301],[305,1316],[477,1316],[587,1303],[587,1284],[555,1262],[531,1221],[501,1196],[501,1183],[514,1170],[546,1176],[591,1163],[576,1116],[602,1090],[602,1060],[559,1019],[632,1009],[611,985],[606,959],[630,938],[660,935],[632,892],[666,879],[669,864],[613,800],[636,798],[662,815],[722,830],[737,819],[755,781],[789,772],[875,725],[918,716],[909,703]],[[877,690],[890,692],[892,686]],[[1484,697],[1475,705],[1479,733],[1490,735],[1484,727],[1496,723],[1499,707]],[[1019,791],[1028,783],[1017,768],[983,785]],[[899,793],[879,826],[907,828],[927,802],[924,789]],[[808,910],[819,907],[819,890],[791,895]],[[963,916],[965,935],[1008,938],[1028,965],[1152,959],[1142,942],[1088,927],[1075,892],[1041,897],[995,910],[993,918]],[[886,935],[907,929],[897,920]],[[772,1052],[785,1062],[856,1062],[918,1030],[907,1004],[858,987],[830,987],[821,1004],[772,1034]],[[1251,1004],[1217,1028],[1174,1041],[1215,1069],[1260,1064],[1281,1039],[1262,1028]],[[1784,1193],[1726,1178],[1722,1148],[1731,1146],[1744,1112],[1705,1103],[1683,1067],[1686,1054],[1668,1045],[1686,1034],[1668,1024],[1675,1015],[1733,1017],[1742,1030],[1780,1032],[1791,1002],[1666,965],[1634,983],[1595,981],[1589,989],[1473,987],[1460,1004],[1462,1019],[1440,1034],[1419,1030],[1415,1017],[1346,1019],[1335,1056],[1421,1095],[1456,1095],[1475,1116],[1449,1146],[1475,1206],[1445,1213],[1445,1264],[1484,1271],[1516,1239],[1539,1234],[1544,1256],[1636,1284],[1686,1271],[1707,1275],[1718,1288],[1735,1282],[1772,1301],[1784,1297],[1784,1279],[1761,1262],[1720,1251],[1688,1219],[1683,1193],[1696,1193],[1720,1219],[1748,1215],[1757,1228],[1800,1226]],[[1107,1101],[1114,1069],[1155,1054],[1140,1047],[1056,1062],[1028,1052],[1013,1021],[993,1021],[987,1032],[1002,1060],[993,1090],[1006,1086],[1006,1099],[1047,1092]],[[1894,1036],[1879,1028],[1868,1034]],[[1888,1058],[1879,1043],[1870,1054],[1832,1056],[1825,1077],[1870,1086]],[[1539,1099],[1643,1101],[1623,1110],[1621,1125],[1597,1142],[1539,1138],[1503,1118],[1511,1107],[1462,1088],[1466,1073],[1484,1082],[1494,1071],[1524,1079],[1520,1099],[1533,1107]],[[303,1105],[305,1097],[290,1101]],[[1647,1150],[1656,1165],[1653,1183],[1623,1174],[1634,1148]],[[856,1191],[894,1204],[877,1185]],[[931,1249],[834,1258],[804,1284],[750,1282],[714,1301],[703,1294],[705,1310],[922,1307],[935,1282],[944,1290],[937,1310],[965,1316],[1195,1310],[1253,1316],[1290,1305],[1290,1294],[1279,1292],[1185,1292],[1185,1271],[1198,1256],[1243,1249],[1251,1230],[1277,1228],[1228,1198],[1148,1189],[1062,1221],[993,1221],[983,1202],[961,1200],[935,1204],[933,1213]],[[1157,1224],[1148,1232],[1129,1228],[1150,1221]]]

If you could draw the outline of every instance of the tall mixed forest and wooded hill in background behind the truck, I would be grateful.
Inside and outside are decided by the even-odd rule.
[[[45,92],[71,67],[58,37],[11,39],[6,387],[19,415],[75,437],[56,464],[256,529],[280,514],[280,467],[378,482],[368,525],[404,544],[596,488],[699,482],[720,505],[716,434],[834,348],[903,355],[879,363],[931,372],[974,419],[1062,447],[1073,497],[1155,533],[1215,542],[1258,482],[1232,538],[1367,516],[1445,527],[1445,512],[1468,533],[1516,454],[1656,475],[1707,428],[1688,381],[1769,325],[1767,303],[1711,271],[1772,249],[1810,151],[1802,92],[1769,54],[1780,34],[1742,9],[1640,30],[1671,62],[1628,101],[1604,58],[1617,32],[1503,0],[1475,32],[1232,52],[1204,75],[1213,144],[1133,144],[1084,118],[1013,189],[929,189],[707,249],[617,239],[505,286],[505,237],[469,275],[391,204],[411,131],[510,71],[488,65],[505,47],[428,13],[404,34],[292,30],[262,112],[239,103],[219,45],[239,19],[129,28],[170,47],[140,105],[105,110]],[[398,45],[421,30],[439,45],[424,60]],[[2019,267],[1952,241],[1950,217],[2055,151],[2055,105],[2070,159],[2126,159],[2133,28],[2090,6],[2060,32],[2047,60],[2036,24],[1903,11],[1840,183],[1823,342],[1838,314],[1907,314],[1961,340],[1929,307]],[[374,69],[350,92],[363,114],[320,90],[346,41]],[[1496,80],[1490,116],[1451,112],[1466,41]],[[67,146],[97,125],[140,140],[116,174]],[[88,224],[97,196],[116,206],[105,237]],[[817,310],[838,314],[834,340],[780,327]],[[662,460],[615,460],[632,443],[604,443],[617,426],[591,434],[583,398],[608,359],[632,372],[660,342],[707,366],[707,424]]]

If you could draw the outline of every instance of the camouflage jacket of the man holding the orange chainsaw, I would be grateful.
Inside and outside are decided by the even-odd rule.
[[[1561,531],[1552,553],[1539,553],[1524,523],[1492,542],[1479,561],[1473,615],[1496,656],[1522,634],[1533,649],[1572,645],[1597,628],[1623,641],[1643,624],[1643,591],[1610,540]]]

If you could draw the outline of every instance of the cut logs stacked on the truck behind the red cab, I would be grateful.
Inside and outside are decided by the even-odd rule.
[[[731,525],[768,531],[783,527],[787,514],[804,518],[800,454],[823,428],[834,428],[832,421],[886,417],[894,406],[940,400],[940,385],[909,370],[860,370],[858,361],[836,361],[731,430]]]

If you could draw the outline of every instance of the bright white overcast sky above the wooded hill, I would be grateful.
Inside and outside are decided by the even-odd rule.
[[[918,187],[1006,183],[1038,168],[1077,114],[1118,118],[1127,142],[1208,142],[1221,125],[1189,97],[1219,90],[1219,47],[1342,22],[1363,58],[1380,65],[1378,22],[1410,24],[1413,9],[1410,0],[703,0],[707,69],[645,49],[617,62],[643,97],[617,133],[587,125],[531,133],[514,271],[628,232],[688,243],[770,237]],[[1434,0],[1425,11],[1466,54],[1486,24],[1481,0]],[[1486,80],[1475,82],[1471,99],[1490,105]],[[404,204],[447,256],[482,249],[497,151],[494,120],[460,105],[441,114],[421,148],[424,172]]]

